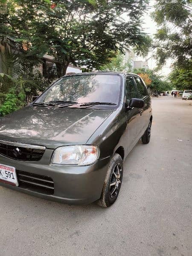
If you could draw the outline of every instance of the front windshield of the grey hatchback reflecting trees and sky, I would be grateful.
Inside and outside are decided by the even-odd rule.
[[[45,102],[108,102],[117,105],[120,95],[118,75],[76,75],[56,81],[35,101]]]

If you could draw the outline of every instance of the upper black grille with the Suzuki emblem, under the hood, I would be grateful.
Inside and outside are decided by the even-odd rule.
[[[12,159],[21,160],[21,161],[40,160],[44,154],[45,149],[39,149],[38,146],[37,148],[35,148],[35,146],[33,145],[31,148],[30,148],[30,145],[28,146],[26,147],[24,144],[23,146],[22,145],[17,146],[17,143],[15,143],[15,145],[9,145],[9,143],[6,144],[6,142],[5,143],[0,142],[0,154]]]

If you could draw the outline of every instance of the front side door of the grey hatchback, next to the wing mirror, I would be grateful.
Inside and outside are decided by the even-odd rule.
[[[126,76],[126,87],[125,87],[125,95],[127,104],[129,105],[130,99],[138,98],[136,84],[132,76]],[[127,134],[128,134],[128,142],[127,142],[127,154],[134,148],[134,145],[140,139],[140,129],[143,125],[143,118],[140,116],[139,108],[132,108],[131,110],[126,112],[127,117]]]

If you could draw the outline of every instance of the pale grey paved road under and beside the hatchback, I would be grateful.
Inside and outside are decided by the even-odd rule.
[[[151,142],[127,157],[112,207],[0,187],[0,256],[192,256],[192,101],[152,101]]]

